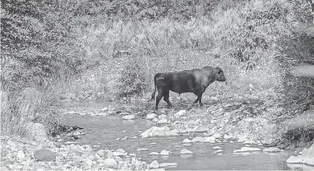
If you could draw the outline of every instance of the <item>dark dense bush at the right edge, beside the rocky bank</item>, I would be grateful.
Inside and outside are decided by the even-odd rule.
[[[295,115],[314,108],[314,79],[311,77],[295,77],[294,67],[299,65],[314,65],[314,37],[297,35],[295,38],[281,42],[281,52],[276,58],[283,70],[283,94],[281,106],[286,108],[286,114]]]

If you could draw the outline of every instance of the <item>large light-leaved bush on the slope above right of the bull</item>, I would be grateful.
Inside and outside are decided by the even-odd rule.
[[[237,19],[223,37],[230,47],[229,56],[246,63],[246,70],[256,67],[260,52],[291,34],[294,21],[287,18],[294,8],[288,1],[251,1],[235,11]]]

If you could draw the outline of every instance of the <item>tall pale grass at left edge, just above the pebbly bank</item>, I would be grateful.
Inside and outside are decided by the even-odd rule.
[[[28,136],[28,122],[44,124],[47,134],[62,120],[58,111],[62,81],[52,79],[43,85],[33,85],[21,91],[1,91],[1,135]]]

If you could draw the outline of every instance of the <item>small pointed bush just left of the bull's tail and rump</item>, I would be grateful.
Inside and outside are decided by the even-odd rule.
[[[119,97],[143,95],[144,91],[148,88],[148,84],[145,79],[143,68],[140,66],[139,58],[133,57],[129,60],[129,63],[121,73],[119,82]]]

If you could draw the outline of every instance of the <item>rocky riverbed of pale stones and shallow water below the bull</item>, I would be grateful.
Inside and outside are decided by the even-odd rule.
[[[136,106],[136,104],[139,105]],[[131,101],[131,103],[118,106],[113,104],[86,104],[85,106],[72,106],[64,111],[65,117],[70,116],[72,120],[70,125],[83,127],[81,124],[85,124],[84,129],[75,127],[77,130],[74,130],[74,127],[67,127],[68,130],[63,130],[64,133],[60,136],[49,138],[50,140],[44,138],[45,141],[42,142],[1,137],[1,170],[21,168],[24,170],[183,169],[180,168],[182,160],[207,163],[206,158],[212,160],[217,158],[217,162],[221,161],[219,159],[221,155],[224,155],[223,158],[227,161],[226,158],[230,158],[228,161],[230,165],[237,168],[232,161],[236,161],[233,157],[238,154],[241,156],[259,155],[256,161],[256,167],[259,167],[258,163],[262,162],[259,161],[260,158],[269,157],[263,155],[272,153],[281,154],[276,155],[281,158],[280,162],[283,159],[280,156],[285,154],[292,155],[290,158],[286,157],[288,163],[313,165],[313,140],[295,147],[294,153],[293,151],[283,153],[283,149],[286,149],[288,145],[274,143],[280,137],[278,130],[281,127],[272,122],[274,111],[280,108],[262,109],[256,101],[249,101],[249,103],[248,101],[234,101],[203,107],[161,108],[156,113],[150,110],[143,101],[135,101],[134,104]],[[260,113],[260,115],[252,113]],[[80,117],[81,121],[75,120],[74,116]],[[101,120],[109,120],[111,116],[120,119],[115,119],[114,124],[104,127],[102,124],[109,124],[109,122],[101,122]],[[97,126],[94,125],[93,120],[98,121],[100,129],[93,129]],[[141,122],[132,124],[134,120],[141,120]],[[91,127],[88,126],[89,124]],[[131,129],[125,127],[127,124],[132,125],[134,129],[130,131]],[[141,127],[143,124],[145,127]],[[124,126],[119,127],[121,125]],[[95,133],[91,137],[93,132],[104,128],[112,129],[113,136],[108,135],[110,131],[104,130],[102,134]],[[106,142],[102,141],[104,139],[97,139],[100,137],[107,138]],[[89,144],[86,145],[84,142],[89,142]],[[130,146],[132,143],[135,144]],[[136,144],[139,145],[136,146]],[[295,157],[295,155],[299,156]],[[169,156],[172,158],[170,161]],[[248,161],[252,157],[237,158],[239,159],[237,162],[241,162]],[[204,169],[210,167],[203,166]],[[246,169],[249,167],[247,166]],[[288,168],[277,169],[287,170]]]

